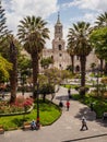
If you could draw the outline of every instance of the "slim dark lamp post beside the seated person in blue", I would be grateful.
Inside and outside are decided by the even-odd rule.
[[[37,129],[39,129],[40,123],[39,123],[39,84],[37,82],[37,119],[36,119],[36,126]]]

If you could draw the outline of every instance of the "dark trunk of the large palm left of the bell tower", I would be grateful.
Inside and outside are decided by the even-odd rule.
[[[38,75],[38,55],[32,55],[32,66],[33,66],[33,96],[36,98],[35,86],[37,84],[37,75]]]

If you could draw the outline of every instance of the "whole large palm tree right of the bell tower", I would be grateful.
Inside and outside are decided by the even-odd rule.
[[[90,23],[78,22],[73,24],[73,28],[69,29],[69,38],[73,38],[73,48],[76,56],[80,57],[81,63],[81,86],[85,86],[85,66],[86,66],[86,56],[92,50],[88,34],[91,32]]]

